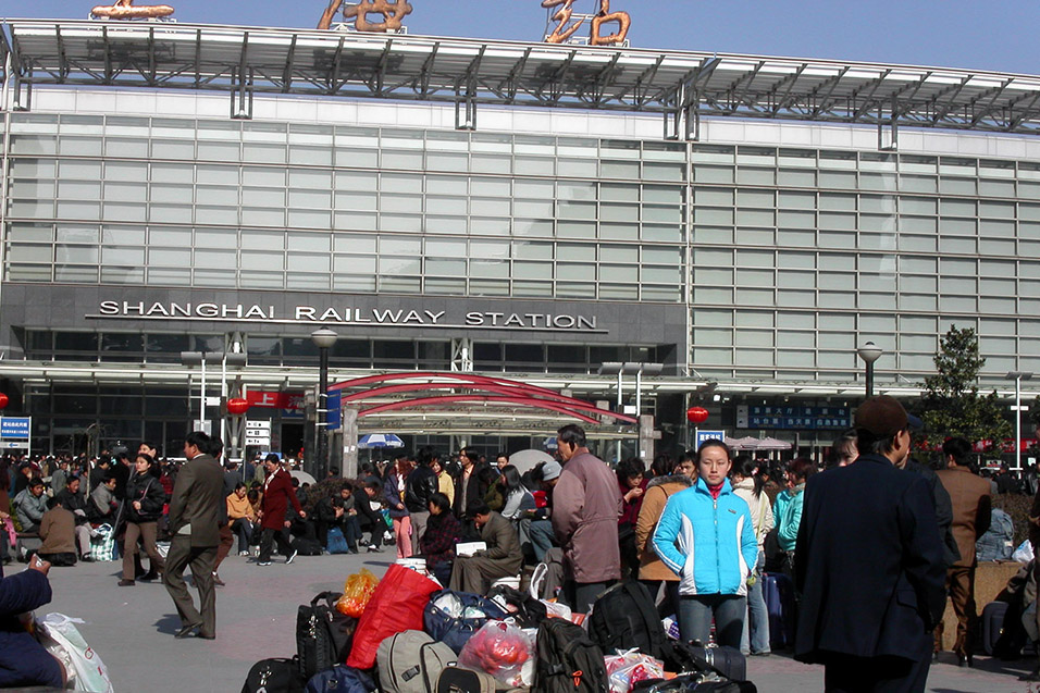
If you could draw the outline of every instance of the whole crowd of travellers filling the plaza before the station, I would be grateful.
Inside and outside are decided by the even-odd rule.
[[[958,617],[954,652],[971,665],[976,540],[993,493],[1028,492],[1030,477],[982,479],[959,438],[943,446],[938,472],[917,465],[908,455],[914,423],[880,397],[857,410],[856,428],[821,466],[734,456],[708,441],[612,468],[590,451],[580,426],[567,425],[556,460],[522,473],[505,454],[492,461],[470,447],[445,457],[424,447],[364,463],[357,479],[333,469],[313,485],[276,455],[222,461],[221,442],[195,432],[179,465],[149,443],[89,461],[4,458],[0,519],[39,539],[47,568],[96,558],[91,539],[111,528],[122,552],[119,585],[161,578],[181,616],[177,638],[216,636],[219,567],[236,544],[260,567],[275,550],[292,564],[300,552],[392,544],[398,559],[478,594],[519,579],[524,565],[546,564],[558,572],[544,596],[577,612],[611,583],[639,580],[683,640],[714,638],[748,655],[770,654],[763,577],[783,573],[796,586],[795,656],[825,664],[829,688],[869,680],[918,690],[930,661],[921,653],[938,648],[941,630],[932,632],[948,594]],[[13,546],[0,536],[7,562]]]

